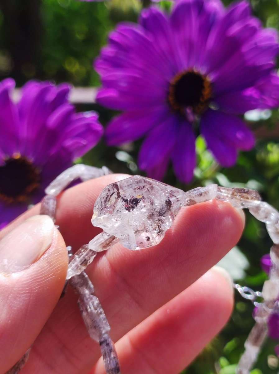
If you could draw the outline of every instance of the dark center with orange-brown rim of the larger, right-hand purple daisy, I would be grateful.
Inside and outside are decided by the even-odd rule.
[[[192,109],[195,114],[203,113],[211,97],[210,80],[193,70],[177,74],[170,82],[170,106],[181,114],[185,113],[185,108]]]

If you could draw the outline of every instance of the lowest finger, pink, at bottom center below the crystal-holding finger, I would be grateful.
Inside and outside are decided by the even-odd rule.
[[[122,374],[177,374],[231,315],[232,281],[213,267],[116,343]],[[90,374],[105,374],[101,359]]]

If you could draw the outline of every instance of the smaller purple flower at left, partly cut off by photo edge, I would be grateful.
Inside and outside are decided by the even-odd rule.
[[[95,112],[75,113],[69,85],[28,82],[15,104],[15,82],[0,82],[0,225],[12,221],[103,134]]]

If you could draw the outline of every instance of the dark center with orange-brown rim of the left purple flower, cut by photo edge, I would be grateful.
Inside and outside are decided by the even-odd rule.
[[[0,200],[5,203],[26,202],[40,186],[40,172],[25,157],[16,155],[0,166]]]

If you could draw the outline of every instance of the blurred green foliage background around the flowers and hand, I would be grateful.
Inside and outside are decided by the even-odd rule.
[[[230,2],[224,0],[225,4]],[[264,25],[279,28],[279,0],[250,2],[254,14]],[[106,43],[107,34],[119,21],[136,21],[142,6],[148,5],[149,1],[142,3],[137,0],[111,0],[105,3],[0,0],[1,79],[13,77],[18,87],[29,79],[54,80],[56,83],[68,81],[75,86],[98,86],[99,79],[93,70],[92,61]],[[164,1],[160,6],[167,9],[170,3]],[[103,125],[115,114],[93,103],[79,105],[78,110],[97,110]],[[198,163],[192,183],[187,186],[179,183],[171,168],[164,181],[184,190],[209,183],[225,187],[248,186],[257,189],[263,200],[279,209],[278,110],[253,111],[245,117],[258,141],[254,150],[239,154],[234,167],[220,168],[199,137]],[[109,148],[102,141],[78,162],[106,165],[116,172],[141,174],[137,169],[140,144],[141,141],[137,141],[121,148]],[[247,215],[245,232],[238,244],[241,252],[235,252],[227,260],[231,264],[231,271],[236,272],[238,283],[261,290],[266,275],[260,270],[259,259],[269,252],[270,245],[271,240],[264,226]],[[184,373],[235,373],[245,338],[254,323],[252,311],[253,305],[236,294],[235,309],[228,325]],[[276,341],[267,341],[253,374],[279,373],[279,360],[274,354],[276,344]]]

